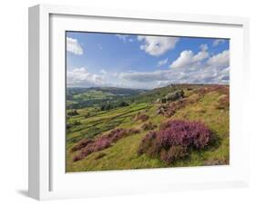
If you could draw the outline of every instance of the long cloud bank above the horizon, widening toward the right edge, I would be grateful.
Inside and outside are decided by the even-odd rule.
[[[193,54],[191,51],[181,52],[179,58],[171,63],[173,67],[169,70],[151,73],[118,73],[118,78],[140,83],[145,88],[161,87],[171,83],[229,83],[229,61],[228,50],[210,56],[206,46],[203,45],[198,54]]]

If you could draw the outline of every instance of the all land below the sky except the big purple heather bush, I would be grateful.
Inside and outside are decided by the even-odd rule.
[[[229,106],[228,85],[67,88],[67,172],[229,164]],[[149,132],[172,121],[202,123],[211,140],[169,162],[162,151],[138,153]]]

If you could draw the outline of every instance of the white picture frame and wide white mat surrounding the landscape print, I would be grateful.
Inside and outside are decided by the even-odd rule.
[[[65,19],[63,20],[62,17],[58,18],[57,16],[65,16]],[[230,101],[235,103],[230,108],[230,136],[233,135],[233,145],[230,150],[231,163],[229,166],[140,171],[97,171],[74,174],[67,174],[65,172],[65,165],[63,164],[63,158],[65,158],[65,145],[63,142],[65,142],[65,138],[56,138],[56,134],[53,134],[57,131],[64,132],[61,128],[55,129],[56,123],[64,122],[63,116],[65,115],[64,112],[61,113],[61,109],[57,110],[56,106],[54,106],[56,101],[64,103],[61,102],[63,101],[63,92],[59,92],[60,95],[55,97],[53,97],[53,93],[59,89],[59,86],[62,84],[61,82],[64,80],[62,78],[62,68],[65,62],[63,62],[64,51],[63,53],[59,52],[61,53],[60,55],[56,55],[54,47],[58,45],[60,47],[63,46],[65,34],[63,36],[61,34],[63,34],[63,31],[68,30],[67,26],[71,28],[72,24],[72,29],[79,30],[78,21],[87,21],[87,24],[89,24],[94,18],[102,20],[102,23],[98,24],[104,24],[105,20],[111,21],[114,19],[115,22],[121,23],[122,21],[128,21],[130,26],[126,28],[120,26],[120,28],[117,28],[116,23],[113,23],[112,28],[107,28],[106,26],[98,28],[98,24],[95,24],[95,26],[90,28],[91,31],[97,29],[98,31],[108,31],[108,29],[112,29],[112,32],[123,31],[128,34],[135,31],[136,28],[133,28],[131,25],[136,25],[137,22],[141,24],[143,22],[147,22],[147,24],[150,22],[152,24],[182,24],[183,27],[194,24],[200,28],[200,31],[197,32],[201,32],[201,35],[206,36],[210,36],[210,34],[221,36],[229,28],[230,32],[227,32],[227,36],[231,36],[232,44],[237,48],[236,50],[239,50],[239,52],[233,53],[233,60],[231,61],[234,71],[231,78],[232,83],[230,83]],[[223,31],[209,26],[221,26]],[[85,28],[80,29],[84,30]],[[244,106],[244,102],[240,94],[243,94],[241,89],[246,86],[246,79],[249,73],[248,29],[249,20],[241,17],[112,11],[65,5],[36,5],[30,7],[29,196],[37,200],[51,200],[169,190],[247,186],[249,184],[249,162],[243,159],[249,155],[249,137],[244,134],[242,127],[237,125],[242,124],[241,109]],[[137,32],[139,31],[137,30]],[[148,30],[144,32],[148,34],[150,28],[148,27]],[[182,32],[185,34],[186,29],[180,28],[180,34]],[[187,32],[189,35],[193,35],[193,33]],[[179,32],[177,34],[179,35]],[[57,59],[57,63],[52,59],[53,56]],[[59,67],[59,70],[51,70],[52,67],[56,66]],[[56,99],[54,100],[55,102],[53,102],[53,99]],[[56,112],[59,112],[59,116],[62,117],[58,120],[53,120],[57,114]],[[237,140],[236,136],[238,135],[242,138]],[[56,142],[59,139],[61,139],[59,141],[61,145],[57,148]],[[241,146],[239,146],[240,143]],[[232,150],[232,148],[236,149]],[[61,162],[58,164],[58,161]],[[183,180],[179,175],[182,175]],[[156,180],[157,178],[158,180]],[[154,180],[148,181],[148,179]],[[87,187],[80,185],[84,184],[83,181],[86,182]],[[100,181],[102,181],[101,184]],[[77,184],[76,189],[72,186],[72,183],[73,185]]]

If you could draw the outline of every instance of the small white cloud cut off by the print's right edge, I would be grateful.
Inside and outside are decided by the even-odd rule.
[[[227,67],[230,65],[230,51],[225,50],[220,54],[213,55],[207,62],[215,67]]]

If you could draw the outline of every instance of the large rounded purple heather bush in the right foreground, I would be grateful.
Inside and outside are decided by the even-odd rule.
[[[169,121],[160,126],[159,132],[149,132],[144,137],[138,154],[159,156],[162,161],[171,163],[187,156],[190,149],[205,148],[211,137],[212,132],[201,122]]]

